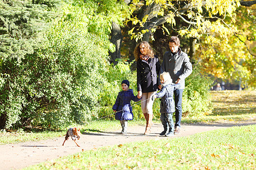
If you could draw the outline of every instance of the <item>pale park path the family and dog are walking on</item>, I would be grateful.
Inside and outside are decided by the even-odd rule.
[[[171,138],[184,137],[230,126],[232,125],[183,125],[181,133]],[[77,141],[81,147],[77,147],[76,143],[71,139],[66,141],[65,145],[62,146],[64,136],[62,138],[49,139],[40,142],[0,145],[0,169],[20,169],[47,160],[60,158],[61,156],[75,154],[84,150],[92,150],[102,146],[167,138],[159,136],[159,133],[163,130],[161,124],[154,124],[150,135],[143,135],[144,129],[144,126],[128,127],[128,133],[126,135],[119,134],[121,129],[102,133],[85,133],[82,134],[81,139]]]

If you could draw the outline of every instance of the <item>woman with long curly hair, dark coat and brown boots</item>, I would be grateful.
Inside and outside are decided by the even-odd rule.
[[[144,134],[150,134],[153,118],[152,95],[160,89],[160,63],[154,56],[153,50],[147,41],[142,41],[134,49],[135,61],[137,61],[137,88],[138,98],[141,99],[142,113],[146,119],[146,130]]]

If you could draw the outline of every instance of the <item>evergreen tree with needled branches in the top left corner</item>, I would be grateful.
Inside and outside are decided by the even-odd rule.
[[[34,48],[43,45],[42,32],[53,16],[55,1],[0,1],[0,61],[16,58],[18,62]]]

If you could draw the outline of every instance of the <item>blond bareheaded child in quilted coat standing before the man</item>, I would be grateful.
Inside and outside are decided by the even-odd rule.
[[[160,135],[172,137],[174,136],[174,120],[172,120],[172,113],[175,112],[174,91],[180,87],[180,83],[172,83],[171,76],[168,72],[160,74],[160,80],[163,87],[160,92],[152,96],[152,100],[162,97],[160,104],[160,120],[164,130]]]

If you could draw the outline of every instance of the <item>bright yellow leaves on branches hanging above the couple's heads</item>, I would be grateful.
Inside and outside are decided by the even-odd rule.
[[[175,16],[180,17],[182,15],[183,19],[189,19],[188,22],[190,22],[189,24],[192,24],[193,27],[187,27],[188,30],[184,30],[187,29],[186,27],[180,29],[179,33],[181,34],[181,36],[187,35],[189,37],[200,37],[202,34],[206,33],[209,33],[208,35],[216,36],[217,33],[217,36],[220,36],[222,39],[227,39],[228,35],[233,35],[234,33],[238,32],[236,27],[232,27],[233,25],[231,23],[236,22],[236,20],[232,16],[234,15],[234,11],[240,5],[240,3],[234,2],[233,0],[191,0],[190,2],[188,2],[188,6],[183,13],[179,12],[180,10],[184,11],[184,8],[182,8],[182,6],[176,6],[176,2],[166,0],[134,0],[133,4],[130,6],[137,6],[137,10],[139,10],[142,8],[143,3],[146,6],[152,5],[153,3],[159,6],[156,6],[154,9],[150,9],[151,12],[149,13],[146,12],[146,15],[141,20],[137,18],[137,15],[134,15],[133,18],[130,19],[133,25],[139,24],[139,27],[144,27],[144,23],[148,22],[152,18],[152,16],[157,15],[158,18],[164,17],[165,22],[170,23],[172,26],[175,26]],[[203,9],[207,11],[207,13],[209,14],[208,16],[205,15],[205,12],[203,14]],[[210,22],[209,18],[216,17],[214,15],[230,16],[230,25],[224,23],[224,20]],[[159,25],[154,25],[152,28],[157,27],[159,27]],[[152,28],[145,29],[151,30]],[[133,31],[130,31],[129,33],[131,34],[133,33]],[[143,31],[141,33],[146,32]],[[138,35],[133,37],[142,36]],[[152,37],[153,36],[151,36],[151,38]],[[214,40],[213,43],[217,43],[217,40],[215,39],[208,39],[208,42],[210,42],[210,40]]]

